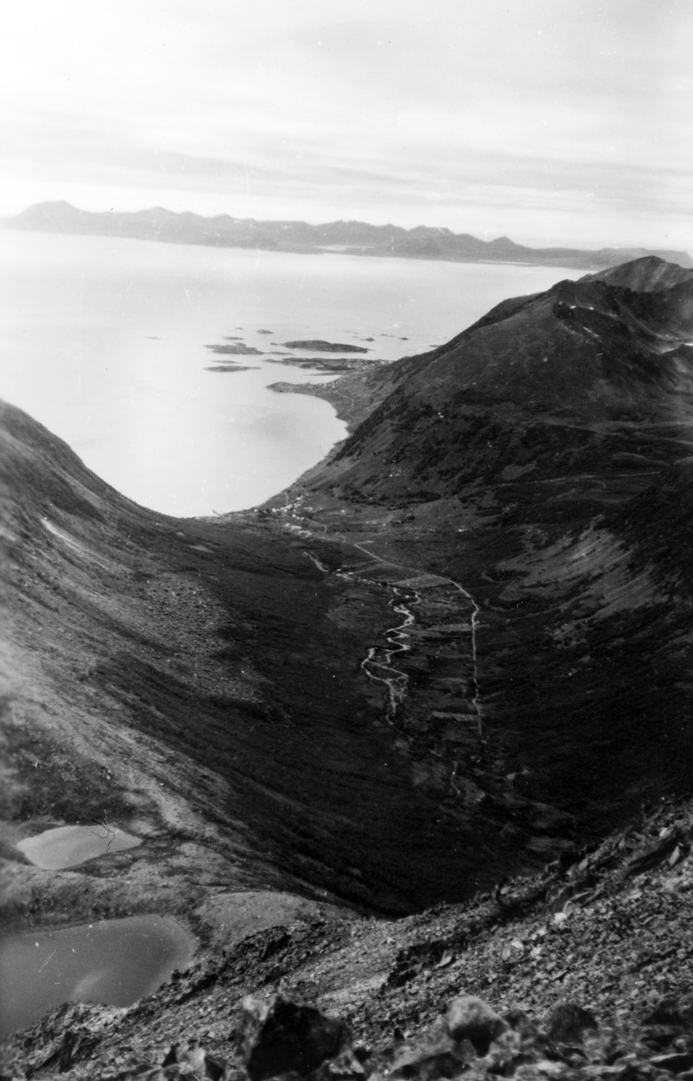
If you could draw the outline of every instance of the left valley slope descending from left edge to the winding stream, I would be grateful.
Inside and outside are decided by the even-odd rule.
[[[337,573],[363,552],[290,507],[155,515],[25,414],[1,422],[5,919],[189,911],[209,883],[400,912],[535,862],[451,764],[426,785],[397,750],[363,667],[393,591]],[[85,881],[11,848],[98,820],[148,840]]]

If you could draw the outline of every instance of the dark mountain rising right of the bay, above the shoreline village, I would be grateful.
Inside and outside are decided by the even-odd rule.
[[[391,369],[393,391],[318,467],[323,486],[416,501],[462,496],[508,465],[533,482],[542,469],[590,470],[593,459],[607,471],[626,443],[627,453],[641,446],[646,465],[680,456],[685,437],[675,445],[657,432],[678,421],[683,432],[690,421],[693,277],[644,292],[650,262],[629,266],[637,292],[594,277],[559,282]],[[657,286],[663,266],[651,275]]]

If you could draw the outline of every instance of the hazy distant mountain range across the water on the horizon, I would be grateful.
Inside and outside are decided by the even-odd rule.
[[[13,229],[41,232],[90,233],[107,237],[134,237],[175,244],[206,244],[219,248],[255,248],[264,251],[320,254],[339,250],[352,255],[396,256],[399,258],[443,259],[461,263],[529,263],[536,266],[562,266],[581,270],[601,270],[628,259],[656,255],[682,267],[693,267],[688,252],[649,251],[644,248],[526,248],[507,237],[485,241],[468,232],[452,232],[419,225],[403,229],[396,225],[368,225],[366,222],[258,222],[255,218],[199,214],[154,206],[136,212],[107,211],[92,214],[67,202],[36,203],[5,221]]]

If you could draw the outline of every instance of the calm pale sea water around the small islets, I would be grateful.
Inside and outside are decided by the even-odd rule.
[[[271,351],[324,338],[395,359],[446,342],[506,296],[575,277],[0,230],[0,397],[144,506],[237,510],[281,491],[345,429],[327,402],[268,390],[328,377],[267,355],[235,358],[250,371],[209,372],[225,358],[205,345],[239,336]]]

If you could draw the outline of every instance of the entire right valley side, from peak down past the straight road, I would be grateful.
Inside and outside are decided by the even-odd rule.
[[[693,281],[647,259],[616,285],[609,275],[504,302],[392,365],[380,403],[294,490],[342,537],[340,506],[361,506],[369,550],[474,597],[497,762],[474,783],[507,799],[509,776],[582,829],[685,785],[693,748],[688,501],[652,532],[663,493],[687,488]],[[444,653],[398,657],[410,686],[396,723],[449,756],[431,709]]]

